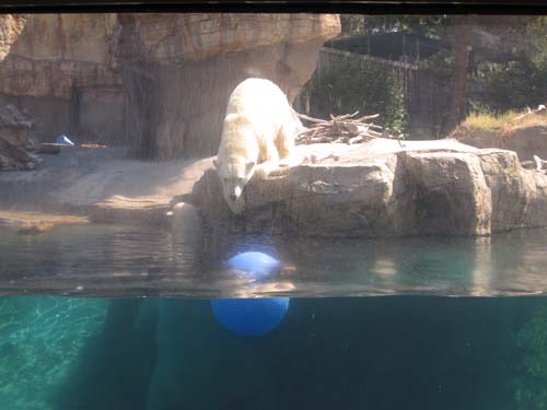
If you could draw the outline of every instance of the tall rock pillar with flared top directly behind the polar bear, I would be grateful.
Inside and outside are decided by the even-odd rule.
[[[249,77],[296,95],[321,46],[339,33],[328,14],[120,16],[126,140],[141,156],[216,153],[230,93]]]

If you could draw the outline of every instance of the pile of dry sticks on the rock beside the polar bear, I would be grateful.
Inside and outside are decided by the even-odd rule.
[[[372,119],[380,117],[380,114],[366,115],[356,118],[359,112],[335,117],[330,115],[329,120],[312,118],[303,114],[296,115],[313,126],[305,128],[296,134],[296,144],[314,144],[325,142],[337,143],[362,143],[374,138],[392,138],[401,140],[403,136],[394,137],[388,130],[371,122]]]

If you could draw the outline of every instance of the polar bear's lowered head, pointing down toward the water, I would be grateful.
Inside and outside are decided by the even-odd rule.
[[[220,161],[213,160],[214,167],[222,183],[224,199],[234,213],[243,212],[243,188],[255,173],[254,161],[244,157],[233,156]]]

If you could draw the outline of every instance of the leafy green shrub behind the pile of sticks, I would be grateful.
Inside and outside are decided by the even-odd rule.
[[[310,115],[380,114],[377,124],[403,132],[407,124],[401,81],[395,71],[369,61],[335,60],[316,71],[304,87]]]

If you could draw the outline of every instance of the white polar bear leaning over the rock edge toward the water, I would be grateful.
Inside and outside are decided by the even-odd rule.
[[[256,175],[296,164],[294,137],[302,128],[284,93],[271,81],[247,79],[230,95],[214,160],[230,209],[243,212],[243,188]]]

